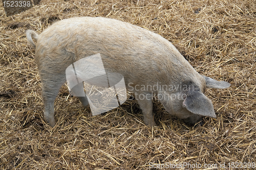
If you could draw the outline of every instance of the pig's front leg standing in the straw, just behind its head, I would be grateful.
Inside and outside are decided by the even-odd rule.
[[[138,104],[144,115],[144,123],[149,126],[157,126],[153,116],[153,102],[151,94],[140,94],[137,98]]]

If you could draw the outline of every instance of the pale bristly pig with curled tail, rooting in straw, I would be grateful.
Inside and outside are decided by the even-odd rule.
[[[54,101],[67,81],[66,68],[95,54],[100,54],[106,71],[122,75],[127,90],[137,94],[135,98],[148,126],[157,126],[153,95],[159,96],[169,114],[195,125],[203,116],[216,117],[214,106],[204,95],[206,88],[230,86],[228,82],[200,75],[162,36],[116,19],[73,17],[55,22],[39,35],[31,30],[26,35],[35,48],[44,116],[52,127]],[[149,86],[155,88],[142,88]],[[78,99],[83,106],[89,104],[87,96]]]

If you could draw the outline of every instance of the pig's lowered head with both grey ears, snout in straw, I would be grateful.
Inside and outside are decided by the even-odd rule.
[[[165,110],[192,125],[200,122],[203,116],[216,117],[214,106],[204,95],[205,88],[225,89],[230,84],[205,76],[203,78],[200,83],[189,82],[175,92],[163,91],[164,97],[159,100]]]

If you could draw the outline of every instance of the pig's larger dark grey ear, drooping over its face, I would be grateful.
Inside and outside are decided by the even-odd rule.
[[[214,105],[199,89],[190,89],[186,92],[183,107],[194,114],[216,117]]]

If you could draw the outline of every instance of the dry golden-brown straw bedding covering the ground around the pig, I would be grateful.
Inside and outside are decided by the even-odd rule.
[[[0,169],[149,169],[166,162],[228,169],[231,162],[256,162],[255,1],[43,0],[9,17],[1,7],[0,15]],[[189,127],[156,100],[154,128],[143,124],[136,101],[91,116],[63,86],[51,128],[42,116],[40,79],[25,30],[40,33],[74,16],[115,18],[151,30],[200,74],[231,83],[206,91],[217,118]]]

